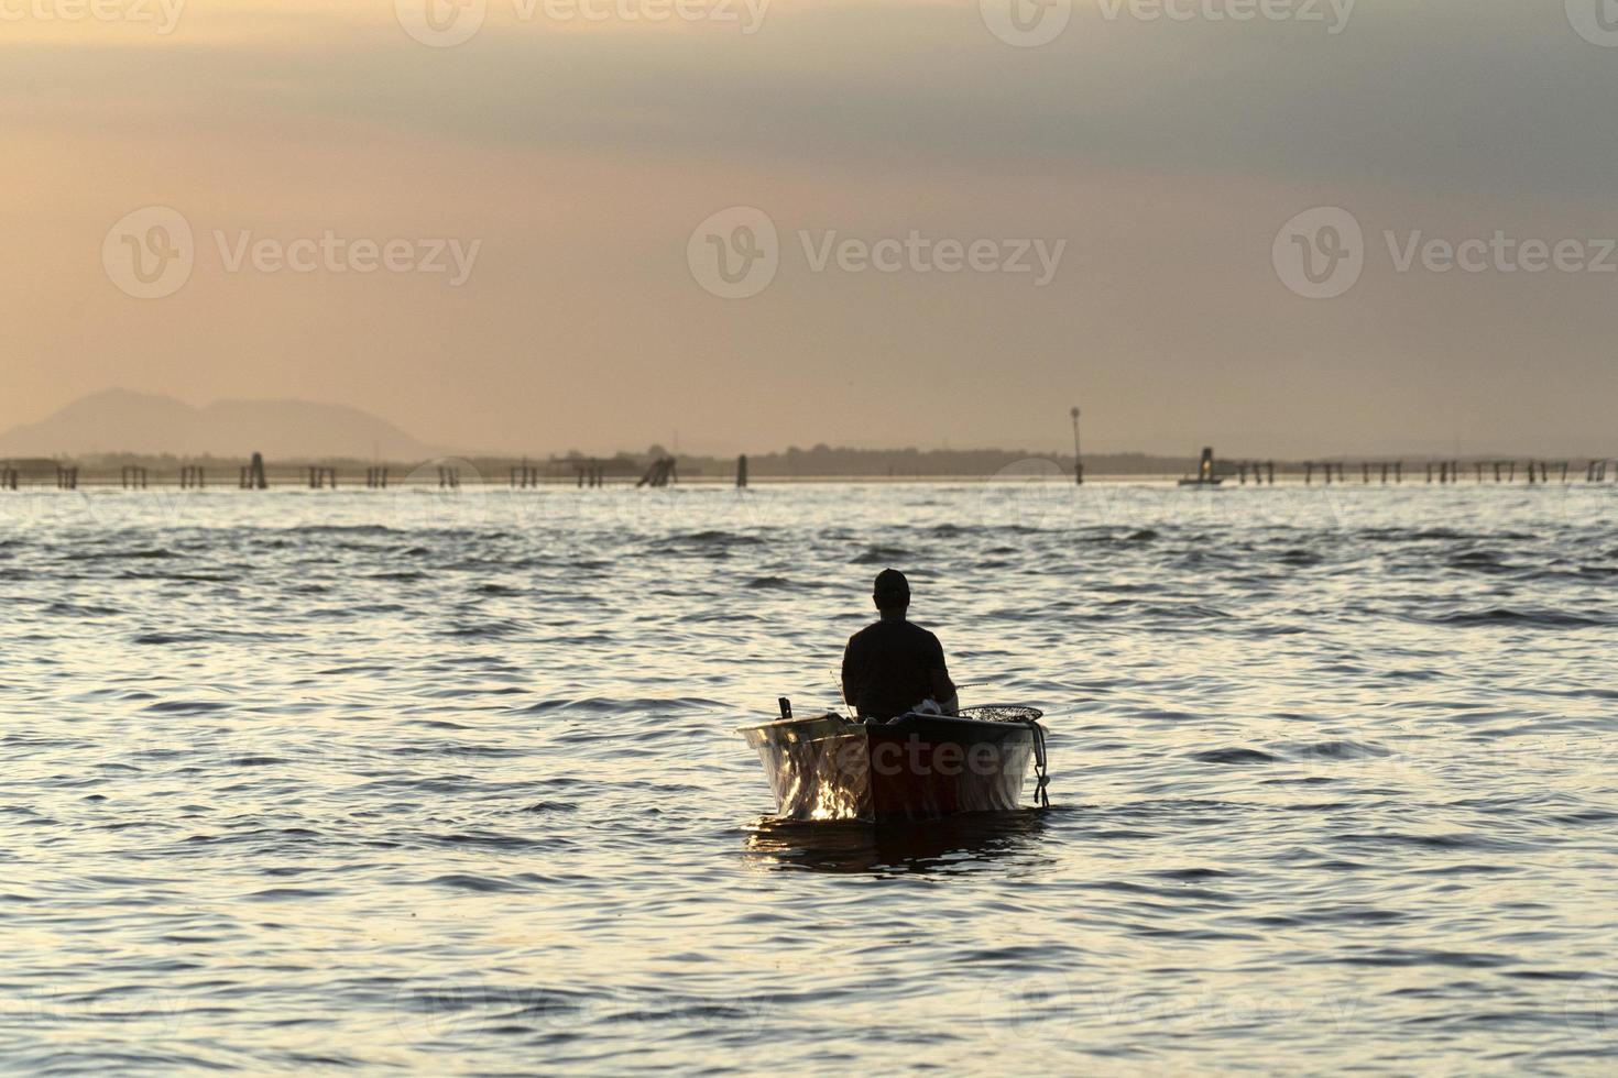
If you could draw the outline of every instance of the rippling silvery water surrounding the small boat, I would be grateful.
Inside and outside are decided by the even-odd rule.
[[[1618,491],[0,496],[6,1070],[1612,1073]],[[870,575],[1053,808],[778,826]]]

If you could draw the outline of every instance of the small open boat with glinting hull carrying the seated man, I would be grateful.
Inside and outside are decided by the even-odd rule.
[[[887,722],[835,711],[736,732],[764,761],[783,819],[935,819],[1021,808],[1029,764],[1045,792],[1045,727],[1037,708],[984,705]]]

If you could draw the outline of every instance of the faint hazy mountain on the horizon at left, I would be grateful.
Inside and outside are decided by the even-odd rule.
[[[341,404],[183,401],[107,390],[0,435],[0,457],[173,454],[422,461],[440,451],[393,423]]]

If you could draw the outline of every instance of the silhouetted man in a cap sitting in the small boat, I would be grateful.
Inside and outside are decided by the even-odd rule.
[[[872,598],[882,621],[848,640],[843,700],[866,719],[892,719],[924,700],[934,700],[945,714],[955,714],[955,682],[943,664],[938,637],[904,621],[909,580],[898,569],[883,569],[877,574]]]

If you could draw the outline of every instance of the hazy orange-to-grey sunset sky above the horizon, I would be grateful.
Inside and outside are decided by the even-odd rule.
[[[1060,449],[1079,402],[1094,451],[1618,453],[1618,40],[1582,0],[1074,0],[1039,45],[1002,0],[489,0],[455,45],[409,29],[472,8],[100,2],[0,0],[0,428],[126,386],[468,451]],[[144,207],[193,233],[157,299],[107,268]],[[726,299],[691,259],[730,207],[778,270]],[[1364,231],[1328,299],[1275,262],[1312,207]],[[327,233],[476,257],[233,265]],[[817,267],[911,233],[993,268]]]

